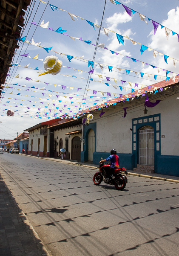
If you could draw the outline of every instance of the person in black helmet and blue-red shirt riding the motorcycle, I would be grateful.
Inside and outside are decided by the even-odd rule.
[[[106,172],[106,175],[107,175],[107,178],[114,178],[114,170],[119,167],[119,157],[117,156],[117,151],[116,149],[111,149],[111,152],[110,152],[110,156],[107,157],[106,159],[104,160],[101,160],[99,163],[103,163],[103,162],[106,162],[106,161],[111,161],[111,166],[110,168],[107,170]],[[111,176],[111,177],[110,177]]]

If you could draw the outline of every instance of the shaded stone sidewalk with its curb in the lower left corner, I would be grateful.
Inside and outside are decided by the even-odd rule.
[[[1,175],[0,256],[50,256]]]

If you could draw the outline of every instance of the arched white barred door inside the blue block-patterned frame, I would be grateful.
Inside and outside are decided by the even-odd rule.
[[[139,164],[154,165],[154,129],[149,125],[139,130]]]

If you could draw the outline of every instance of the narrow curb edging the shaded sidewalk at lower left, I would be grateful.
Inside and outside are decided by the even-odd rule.
[[[4,170],[4,168],[1,166],[1,168]],[[6,172],[4,170],[4,172]],[[7,192],[9,194],[9,196],[11,197],[12,201],[15,202],[15,204],[18,205],[18,208],[20,209],[20,218],[22,219],[23,223],[26,224],[27,229],[29,231],[29,233],[32,236],[32,239],[34,240],[35,244],[37,245],[38,249],[41,251],[43,256],[51,256],[51,254],[48,253],[47,249],[45,248],[43,242],[41,241],[40,237],[37,235],[37,233],[35,232],[32,224],[30,223],[30,221],[28,220],[28,218],[26,217],[25,213],[23,212],[22,208],[20,207],[20,205],[17,203],[16,198],[14,197],[14,195],[11,195],[11,193],[9,192],[8,186],[6,185],[5,181],[3,180],[3,177],[0,176],[1,181],[3,181],[3,183],[5,184],[6,188],[7,188]]]

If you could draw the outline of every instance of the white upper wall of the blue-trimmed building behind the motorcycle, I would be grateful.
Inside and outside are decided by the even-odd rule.
[[[115,148],[119,153],[132,153],[132,119],[150,116],[153,114],[161,114],[161,154],[163,155],[179,155],[179,99],[176,99],[179,93],[169,96],[156,105],[154,108],[147,108],[148,113],[145,115],[143,110],[145,97],[138,104],[134,102],[125,102],[121,107],[115,109],[106,108],[102,117],[98,113],[94,114],[94,119],[90,123],[97,122],[97,151],[110,152]],[[155,100],[151,100],[155,102]],[[123,118],[124,111],[127,109],[127,116]]]

